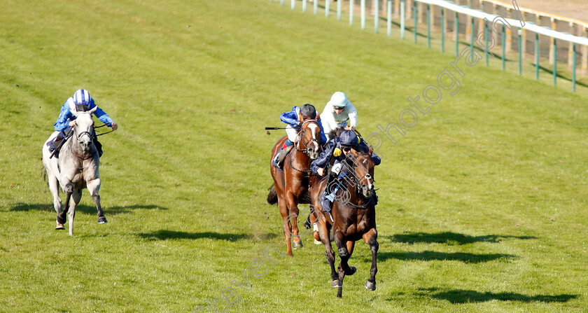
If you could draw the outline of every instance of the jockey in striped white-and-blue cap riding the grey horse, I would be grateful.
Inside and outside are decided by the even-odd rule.
[[[61,144],[62,139],[66,137],[69,128],[76,125],[76,116],[73,115],[73,113],[90,111],[91,109],[94,109],[95,106],[94,99],[90,97],[90,92],[87,92],[87,90],[79,89],[73,94],[73,97],[69,97],[59,112],[59,118],[57,118],[57,121],[53,124],[55,131],[59,132],[59,134],[57,134],[57,137],[55,137],[53,141],[47,143],[49,151],[55,151],[55,148],[59,147]],[[94,115],[102,121],[102,123],[112,127],[112,130],[117,130],[118,125],[114,123],[112,118],[104,113],[102,109],[97,108],[96,111],[94,111]],[[102,144],[98,142],[96,137],[93,139],[99,156],[102,156]]]

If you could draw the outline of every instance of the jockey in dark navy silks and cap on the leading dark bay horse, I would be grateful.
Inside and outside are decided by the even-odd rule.
[[[324,192],[325,197],[329,198],[331,202],[332,199],[335,198],[335,191],[330,189],[332,189],[332,185],[335,185],[333,182],[337,180],[339,173],[342,172],[344,166],[342,160],[345,159],[347,153],[351,152],[351,148],[359,153],[368,153],[370,151],[370,148],[367,146],[367,144],[365,144],[365,141],[361,140],[361,138],[358,137],[355,132],[352,130],[344,130],[339,137],[329,141],[325,147],[325,151],[323,151],[323,153],[318,156],[318,159],[312,161],[310,164],[310,170],[313,173],[323,176],[326,174],[325,168],[328,166],[330,158],[335,158],[335,163],[332,165],[328,183]],[[374,165],[379,165],[381,162],[379,156],[373,152],[372,160],[374,161]],[[343,172],[347,172],[347,169],[344,169]],[[375,192],[374,200],[376,200],[377,204],[377,196],[375,196]],[[328,204],[328,202],[323,203]],[[323,204],[323,211],[329,212],[330,206]]]

